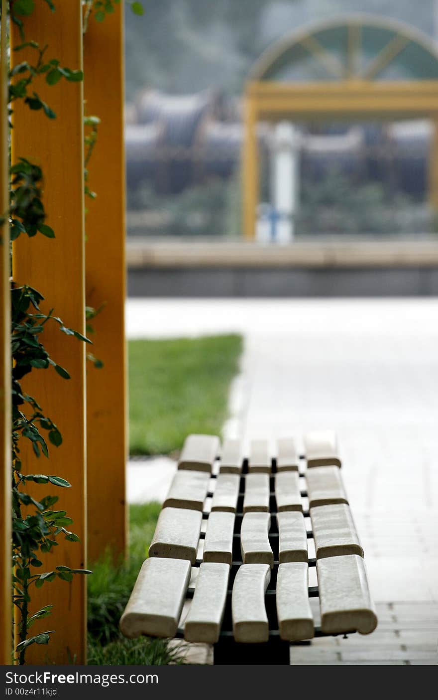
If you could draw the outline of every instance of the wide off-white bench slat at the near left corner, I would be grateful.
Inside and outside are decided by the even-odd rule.
[[[120,618],[122,633],[174,637],[190,570],[190,561],[183,559],[146,559]]]

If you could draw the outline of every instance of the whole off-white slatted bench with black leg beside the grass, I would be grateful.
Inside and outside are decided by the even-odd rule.
[[[213,644],[215,664],[289,664],[290,644],[376,628],[328,431],[220,446],[189,435],[120,629]],[[309,585],[309,578],[311,585]]]

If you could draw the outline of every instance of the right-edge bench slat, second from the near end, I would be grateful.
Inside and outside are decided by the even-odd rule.
[[[317,505],[310,509],[316,558],[359,554],[363,556],[350,507],[346,503]]]

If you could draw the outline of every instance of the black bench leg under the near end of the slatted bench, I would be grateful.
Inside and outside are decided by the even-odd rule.
[[[213,645],[215,666],[289,666],[290,643],[271,638],[262,644],[242,644],[232,637],[221,637]]]

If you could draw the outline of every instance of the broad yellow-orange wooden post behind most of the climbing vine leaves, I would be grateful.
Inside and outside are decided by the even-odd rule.
[[[12,25],[13,45],[22,43]],[[48,45],[48,57],[56,57],[61,66],[82,69],[82,10],[78,0],[56,3],[54,13],[46,3],[36,3],[34,13],[24,18],[27,41]],[[31,49],[13,52],[13,61],[34,61]],[[27,283],[45,296],[43,310],[55,308],[64,323],[80,332],[85,330],[85,265],[83,201],[83,85],[61,80],[49,87],[44,78],[35,85],[41,99],[55,111],[48,119],[42,110],[30,111],[22,101],[14,104],[12,159],[24,157],[41,165],[44,174],[43,202],[48,225],[55,239],[41,235],[21,236],[14,244],[13,276],[18,284]],[[50,447],[50,459],[39,461],[28,449],[22,450],[27,472],[62,476],[71,489],[35,486],[34,495],[59,496],[57,508],[73,518],[72,529],[80,542],[59,538],[52,553],[41,555],[43,569],[64,564],[71,568],[86,565],[86,461],[85,461],[85,347],[83,342],[66,337],[56,323],[47,323],[43,344],[59,365],[66,367],[71,379],[64,380],[52,370],[31,372],[23,381],[24,389],[37,398],[46,415],[55,421],[63,436],[60,447]],[[23,446],[24,448],[24,446]],[[102,514],[104,517],[104,514]],[[48,646],[29,647],[29,662],[54,661],[66,664],[86,660],[86,577],[76,575],[73,582],[57,579],[34,589],[31,610],[51,603],[52,615],[32,626],[32,633],[55,629]]]

